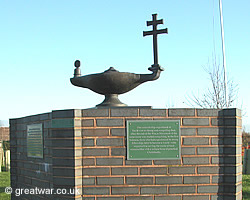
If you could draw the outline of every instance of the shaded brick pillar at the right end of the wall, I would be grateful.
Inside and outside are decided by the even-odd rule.
[[[222,122],[221,122],[222,123]],[[221,125],[221,124],[220,124]],[[242,199],[242,120],[238,109],[223,110],[224,148],[220,163],[224,165],[226,199]]]

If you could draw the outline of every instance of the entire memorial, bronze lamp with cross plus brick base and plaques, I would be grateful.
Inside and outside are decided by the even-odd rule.
[[[157,35],[167,29],[152,16],[153,30],[143,32],[153,35],[151,74],[110,68],[81,76],[76,61],[71,83],[105,95],[101,104],[10,120],[12,199],[242,198],[240,110],[129,107],[118,99],[163,70]]]

